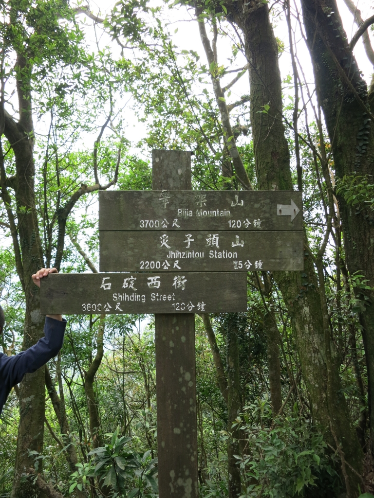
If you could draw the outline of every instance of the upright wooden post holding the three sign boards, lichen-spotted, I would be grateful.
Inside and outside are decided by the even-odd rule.
[[[153,190],[191,190],[191,156],[152,151]],[[194,314],[157,314],[156,388],[160,498],[197,498]]]

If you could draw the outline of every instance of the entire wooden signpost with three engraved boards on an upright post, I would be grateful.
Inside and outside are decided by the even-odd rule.
[[[107,273],[43,278],[40,312],[155,313],[159,495],[197,498],[194,313],[245,312],[248,270],[303,269],[302,196],[191,191],[176,150],[152,151],[152,183],[99,193]]]

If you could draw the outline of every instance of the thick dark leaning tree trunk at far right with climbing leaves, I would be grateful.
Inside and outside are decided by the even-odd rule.
[[[332,144],[336,178],[352,173],[373,175],[374,123],[369,118],[367,85],[348,47],[337,3],[335,0],[304,0],[302,7],[317,98],[324,112]],[[355,209],[343,196],[337,197],[344,229],[347,267],[351,274],[363,272],[373,289],[373,213],[364,206]],[[362,300],[369,417],[373,438],[374,293],[373,290],[356,288],[356,296]]]

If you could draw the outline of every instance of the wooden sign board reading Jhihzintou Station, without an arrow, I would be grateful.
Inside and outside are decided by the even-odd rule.
[[[101,271],[303,268],[302,232],[100,232]]]

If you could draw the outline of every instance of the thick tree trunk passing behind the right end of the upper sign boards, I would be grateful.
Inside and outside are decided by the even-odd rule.
[[[282,123],[282,86],[278,66],[277,44],[266,4],[252,8],[241,1],[230,7],[229,16],[244,32],[245,50],[250,63],[251,124],[259,186],[264,190],[293,190],[289,151]],[[251,12],[248,10],[251,9]],[[268,114],[258,113],[269,103]],[[373,259],[374,260],[374,259]],[[330,341],[333,368],[327,368],[324,320],[317,276],[311,257],[305,259],[301,272],[275,272],[275,280],[288,307],[304,380],[308,387],[313,416],[325,428],[330,420],[342,442],[347,462],[362,470],[362,449],[354,433],[341,387],[336,352]],[[300,292],[304,283],[313,284]],[[319,282],[320,286],[324,281]],[[330,376],[330,378],[328,378]],[[327,396],[328,385],[331,397]],[[331,442],[334,440],[331,438]],[[357,488],[357,477],[350,475],[351,489]]]

